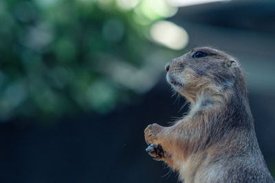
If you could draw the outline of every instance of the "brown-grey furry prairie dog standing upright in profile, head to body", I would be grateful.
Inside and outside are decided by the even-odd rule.
[[[192,58],[197,51],[207,56]],[[190,111],[169,127],[148,125],[145,140],[154,144],[146,151],[186,183],[274,182],[256,140],[239,62],[201,47],[168,62],[166,70]]]

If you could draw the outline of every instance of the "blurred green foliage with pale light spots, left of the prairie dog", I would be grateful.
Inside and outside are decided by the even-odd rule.
[[[150,88],[164,66],[152,60],[174,52],[148,28],[176,12],[151,2],[0,1],[0,120],[105,113]]]

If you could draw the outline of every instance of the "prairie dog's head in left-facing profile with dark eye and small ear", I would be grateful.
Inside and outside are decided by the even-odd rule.
[[[223,51],[199,47],[165,66],[166,79],[178,93],[189,101],[203,90],[222,90],[234,88],[236,81],[245,86],[239,62]]]

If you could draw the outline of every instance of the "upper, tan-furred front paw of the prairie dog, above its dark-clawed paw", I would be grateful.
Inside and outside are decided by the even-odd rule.
[[[159,134],[162,132],[162,129],[163,127],[161,125],[157,125],[157,123],[148,125],[144,130],[146,143],[148,145],[154,143],[154,141],[159,137]]]

